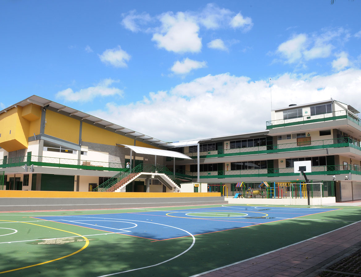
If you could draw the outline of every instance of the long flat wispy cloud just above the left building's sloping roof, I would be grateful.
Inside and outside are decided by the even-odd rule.
[[[89,102],[96,97],[107,97],[118,95],[121,96],[123,91],[118,88],[110,87],[113,83],[119,82],[118,80],[104,79],[96,86],[90,86],[86,89],[73,91],[71,88],[59,91],[56,94],[57,98],[62,98],[68,102]]]

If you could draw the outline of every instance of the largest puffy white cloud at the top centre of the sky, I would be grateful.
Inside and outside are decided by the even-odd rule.
[[[198,36],[199,26],[192,17],[182,12],[168,12],[160,16],[160,21],[160,32],[152,37],[158,48],[175,53],[200,52],[202,39]]]

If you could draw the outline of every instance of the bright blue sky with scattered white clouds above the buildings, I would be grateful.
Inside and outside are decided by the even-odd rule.
[[[272,108],[332,97],[360,110],[360,11],[358,0],[4,0],[0,106],[36,94],[166,141],[263,130],[271,93]]]

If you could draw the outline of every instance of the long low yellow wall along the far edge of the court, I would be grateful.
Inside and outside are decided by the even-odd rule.
[[[0,197],[41,198],[140,198],[140,197],[215,197],[220,192],[80,192],[80,191],[0,191]]]

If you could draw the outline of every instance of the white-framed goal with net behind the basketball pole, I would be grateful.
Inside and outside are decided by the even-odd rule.
[[[291,183],[290,204],[291,205],[322,205],[323,183]]]

